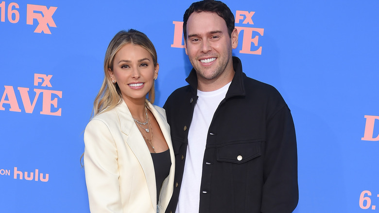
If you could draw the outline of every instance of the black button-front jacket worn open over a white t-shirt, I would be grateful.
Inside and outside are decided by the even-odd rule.
[[[291,213],[298,202],[297,148],[287,104],[272,86],[246,77],[233,57],[235,75],[208,129],[199,213]],[[186,160],[188,130],[197,100],[192,69],[188,86],[165,105],[175,153],[174,213]]]

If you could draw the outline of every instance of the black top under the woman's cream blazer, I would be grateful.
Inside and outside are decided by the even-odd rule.
[[[151,153],[151,158],[154,163],[155,171],[155,184],[156,184],[156,205],[158,205],[160,188],[162,187],[163,180],[170,174],[171,159],[170,150],[167,149],[160,153]]]

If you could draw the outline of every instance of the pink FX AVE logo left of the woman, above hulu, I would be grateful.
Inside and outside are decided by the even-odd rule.
[[[52,87],[50,80],[52,75],[34,73],[34,86]],[[18,90],[18,91],[17,91]],[[22,103],[26,113],[33,113],[34,107],[38,100],[42,102],[42,110],[39,112],[43,115],[62,115],[62,108],[58,107],[58,98],[62,98],[62,91],[51,89],[30,89],[24,87],[4,86],[4,92],[0,100],[0,110],[9,109],[13,112],[21,112],[20,103]],[[29,90],[34,91],[29,92]]]

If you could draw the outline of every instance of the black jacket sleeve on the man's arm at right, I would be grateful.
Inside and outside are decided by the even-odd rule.
[[[292,115],[287,105],[266,125],[262,213],[292,213],[298,202],[297,148]]]

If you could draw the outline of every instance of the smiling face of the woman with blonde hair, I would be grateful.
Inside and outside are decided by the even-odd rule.
[[[113,71],[108,69],[111,80],[120,87],[122,98],[129,101],[144,101],[153,86],[159,65],[154,67],[151,54],[138,45],[126,44],[115,55]]]

